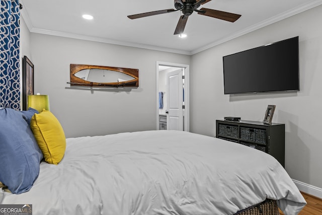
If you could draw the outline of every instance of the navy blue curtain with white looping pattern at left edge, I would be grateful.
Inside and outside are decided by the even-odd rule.
[[[19,1],[0,2],[0,107],[20,110]]]

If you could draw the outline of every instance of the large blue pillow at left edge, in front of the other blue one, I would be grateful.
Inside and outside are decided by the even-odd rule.
[[[17,194],[32,187],[43,157],[25,117],[21,111],[0,109],[0,181]]]

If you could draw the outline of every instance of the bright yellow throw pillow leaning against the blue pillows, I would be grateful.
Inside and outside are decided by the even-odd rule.
[[[48,110],[34,114],[30,121],[37,144],[49,164],[58,164],[64,157],[66,138],[58,119]]]

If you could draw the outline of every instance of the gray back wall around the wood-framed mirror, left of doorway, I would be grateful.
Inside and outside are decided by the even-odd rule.
[[[66,137],[156,129],[156,61],[190,64],[190,56],[31,33],[35,93],[49,95],[50,110]],[[69,64],[139,69],[139,87],[70,87]]]

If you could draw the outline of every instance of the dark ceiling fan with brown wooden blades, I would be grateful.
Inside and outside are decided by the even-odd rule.
[[[175,30],[174,35],[176,34],[182,34],[185,27],[186,23],[188,20],[188,17],[195,11],[200,15],[208,16],[208,17],[213,17],[217,18],[220,20],[225,20],[228,22],[235,22],[241,15],[238,14],[232,14],[224,11],[217,11],[217,10],[212,10],[208,8],[201,8],[198,10],[197,8],[200,7],[200,5],[203,5],[207,2],[210,2],[211,0],[174,0],[175,1],[175,9],[168,9],[168,10],[160,10],[160,11],[152,11],[152,12],[147,12],[147,13],[142,13],[142,14],[135,14],[135,15],[130,15],[127,16],[130,19],[137,19],[137,18],[142,18],[142,17],[148,17],[148,16],[153,16],[153,15],[158,15],[158,14],[167,14],[167,13],[172,13],[175,11],[182,11],[183,15],[180,17],[177,28]]]

